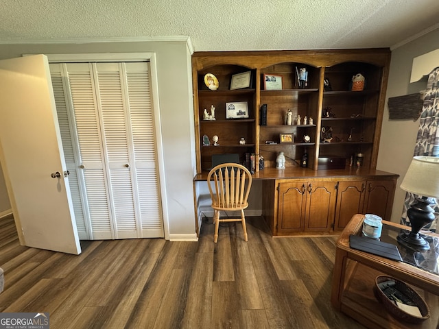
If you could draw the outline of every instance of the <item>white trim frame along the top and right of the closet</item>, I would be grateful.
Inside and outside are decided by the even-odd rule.
[[[155,53],[61,53],[47,54],[49,63],[69,62],[150,62],[150,78],[152,106],[154,111],[154,131],[156,138],[158,181],[161,191],[161,209],[165,239],[169,240],[169,218],[167,212],[167,197],[165,190],[165,166],[163,157],[163,140],[161,134],[160,106],[158,103],[158,80]]]

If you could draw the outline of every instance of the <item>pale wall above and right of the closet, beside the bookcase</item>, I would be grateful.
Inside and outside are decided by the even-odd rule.
[[[195,172],[191,51],[187,40],[2,45],[0,59],[23,53],[156,53],[158,101],[171,239],[196,239],[193,208]],[[0,184],[0,206],[2,192]],[[3,199],[5,199],[3,197]],[[1,212],[1,208],[0,208]]]

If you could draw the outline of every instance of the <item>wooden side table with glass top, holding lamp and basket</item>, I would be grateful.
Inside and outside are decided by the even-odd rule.
[[[337,240],[331,304],[337,310],[353,317],[367,328],[439,328],[439,274],[435,270],[425,270],[409,263],[397,262],[367,252],[351,249],[349,236],[361,235],[364,215],[354,215]],[[383,221],[383,232],[387,239],[397,245],[396,236],[406,226]],[[434,238],[438,234],[422,231]],[[384,236],[382,236],[384,238]],[[384,241],[384,239],[381,239]],[[390,242],[390,241],[385,241]],[[403,246],[399,245],[401,252]],[[435,250],[432,250],[435,252]],[[422,255],[421,255],[422,256]],[[439,258],[437,255],[436,260]],[[410,284],[418,291],[430,308],[431,317],[422,324],[408,324],[394,319],[378,302],[373,294],[375,278],[387,275]]]

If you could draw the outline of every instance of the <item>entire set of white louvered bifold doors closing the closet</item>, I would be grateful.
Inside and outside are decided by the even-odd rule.
[[[51,70],[82,239],[163,237],[149,63]]]

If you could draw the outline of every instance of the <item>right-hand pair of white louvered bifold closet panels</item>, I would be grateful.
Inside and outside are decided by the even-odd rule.
[[[117,239],[164,236],[148,66],[95,64]]]

